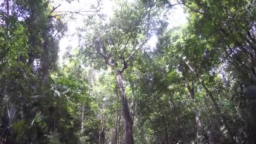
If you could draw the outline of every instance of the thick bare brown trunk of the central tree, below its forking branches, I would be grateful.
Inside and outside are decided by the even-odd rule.
[[[125,144],[133,144],[133,133],[132,133],[132,120],[129,113],[129,108],[125,96],[125,88],[123,85],[122,75],[117,73],[117,84],[121,94],[122,109],[123,109],[123,123],[125,129]]]

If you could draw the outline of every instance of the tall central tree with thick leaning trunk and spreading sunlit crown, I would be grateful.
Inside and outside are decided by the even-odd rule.
[[[116,75],[123,109],[125,144],[132,144],[132,119],[122,75],[125,69],[128,69],[129,65],[136,60],[136,54],[145,49],[147,40],[155,31],[153,26],[157,20],[153,19],[155,13],[151,7],[144,8],[139,2],[122,0],[117,3],[119,7],[109,23],[103,24],[104,21],[100,20],[99,25],[92,28],[95,29],[94,36],[87,39],[89,38],[93,43],[87,42],[91,45],[84,45],[84,49],[90,51],[91,55],[96,51],[95,54],[104,59],[104,63],[110,66]],[[91,29],[91,26],[87,29]]]

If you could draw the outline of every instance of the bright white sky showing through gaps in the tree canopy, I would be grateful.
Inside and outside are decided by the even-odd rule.
[[[73,1],[71,4],[65,2],[64,0],[54,0],[53,5],[56,7],[59,4],[61,4],[56,11],[81,11],[81,10],[90,10],[90,4],[95,3],[96,0],[79,0]],[[112,15],[113,11],[112,8],[115,6],[114,0],[102,0],[103,2],[103,9],[100,11],[100,13],[106,14],[108,17]],[[175,2],[173,2],[175,3]],[[168,28],[172,27],[179,27],[186,23],[187,17],[186,14],[183,11],[183,8],[181,5],[176,5],[175,8],[171,10],[171,14],[169,16],[168,20]],[[76,32],[76,28],[80,27],[83,24],[83,16],[82,15],[75,15],[75,19],[70,20],[68,25],[68,31],[67,36],[63,37],[60,40],[59,47],[59,59],[60,61],[63,61],[62,56],[67,51],[67,47],[71,46],[72,48],[75,48],[78,46],[78,40],[77,37],[75,37],[74,34]],[[152,49],[155,48],[155,45],[157,43],[157,36],[154,35],[151,37],[151,39],[148,41],[148,44]]]

